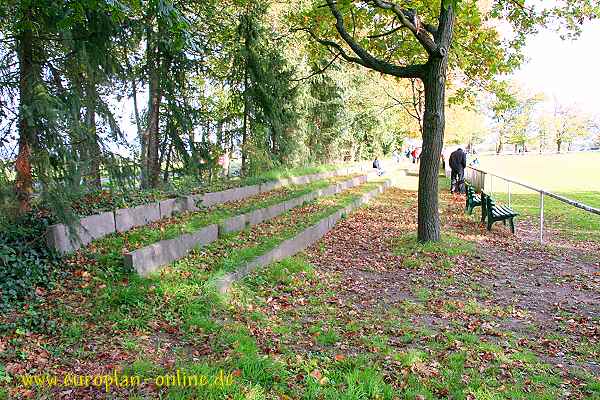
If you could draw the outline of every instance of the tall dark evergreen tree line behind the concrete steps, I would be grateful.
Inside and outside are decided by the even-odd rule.
[[[242,175],[372,158],[418,133],[390,82],[312,58],[278,7],[3,2],[5,201],[22,214],[34,194],[206,181],[224,154]]]

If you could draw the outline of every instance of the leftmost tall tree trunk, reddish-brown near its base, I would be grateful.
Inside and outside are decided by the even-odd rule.
[[[32,19],[32,10],[25,12],[26,18]],[[33,194],[33,177],[31,168],[31,148],[35,140],[35,126],[32,123],[30,107],[33,103],[34,74],[33,65],[33,31],[25,23],[25,28],[18,39],[19,48],[19,153],[15,163],[17,177],[15,192],[19,203],[19,214],[31,210]]]

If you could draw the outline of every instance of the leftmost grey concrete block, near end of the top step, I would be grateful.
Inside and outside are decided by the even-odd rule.
[[[65,224],[51,225],[46,230],[48,247],[65,254],[116,232],[115,216],[112,211],[91,215],[75,222],[72,232]]]

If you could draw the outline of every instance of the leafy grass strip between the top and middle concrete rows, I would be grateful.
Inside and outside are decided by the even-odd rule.
[[[261,193],[244,200],[218,204],[192,213],[184,213],[155,223],[138,227],[123,233],[116,233],[95,241],[89,246],[89,253],[106,266],[122,266],[122,254],[156,243],[173,239],[185,233],[195,232],[205,226],[216,224],[234,215],[245,214],[260,208],[269,207],[318,189],[346,181],[354,176],[341,176],[311,182],[307,185],[291,185],[267,193]]]

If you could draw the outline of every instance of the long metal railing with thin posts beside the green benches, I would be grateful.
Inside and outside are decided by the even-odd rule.
[[[486,176],[489,177],[489,186],[490,186],[489,188],[485,187]],[[502,179],[503,181],[507,182],[508,206],[509,207],[512,206],[511,184],[519,185],[519,186],[522,186],[524,188],[527,188],[529,190],[539,193],[539,195],[540,195],[540,243],[544,243],[544,196],[551,197],[553,199],[556,199],[563,203],[569,204],[570,206],[585,210],[592,214],[600,215],[600,209],[597,209],[597,208],[591,207],[587,204],[580,203],[578,201],[569,199],[567,197],[550,192],[548,190],[538,188],[538,187],[529,185],[527,183],[519,182],[515,179],[506,178],[504,176],[496,175],[489,171],[484,171],[484,170],[481,170],[481,169],[478,169],[475,167],[467,167],[467,169],[465,171],[465,180],[466,181],[471,183],[477,190],[485,190],[486,192],[489,192],[490,195],[494,193],[493,178]]]

